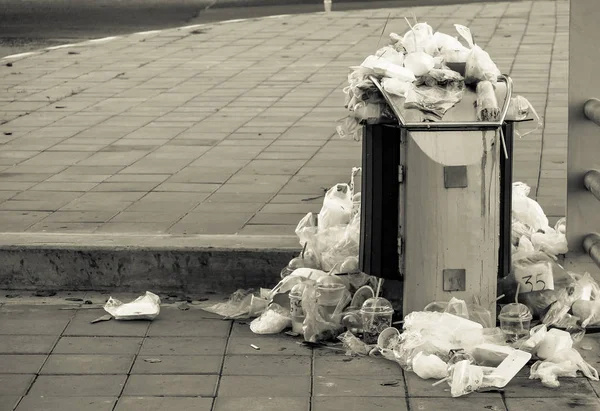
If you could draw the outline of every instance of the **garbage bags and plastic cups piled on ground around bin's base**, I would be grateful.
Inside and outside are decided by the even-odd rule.
[[[299,222],[303,250],[283,268],[278,284],[256,293],[238,290],[205,310],[254,318],[255,334],[291,329],[287,334],[309,343],[341,344],[346,355],[394,361],[432,385],[447,384],[452,397],[502,389],[533,361],[530,378],[547,387],[578,372],[598,380],[575,347],[585,327],[600,322],[600,288],[589,274],[558,264],[557,255],[567,251],[565,219],[550,227],[528,186],[513,185],[513,269],[499,280],[498,318],[489,307],[452,298],[395,322],[392,304],[381,297],[382,280],[358,268],[359,171],[352,170],[350,184],[327,192],[317,215]]]

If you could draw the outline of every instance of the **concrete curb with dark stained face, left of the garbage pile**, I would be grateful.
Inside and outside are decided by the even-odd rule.
[[[0,234],[0,288],[225,292],[274,284],[293,236]]]

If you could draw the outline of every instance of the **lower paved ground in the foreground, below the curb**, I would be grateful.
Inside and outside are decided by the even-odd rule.
[[[453,399],[446,384],[432,387],[394,362],[254,335],[196,306],[163,306],[152,322],[90,324],[107,296],[73,294],[94,302],[77,310],[64,309],[77,307],[65,297],[0,300],[1,411],[600,409],[600,384],[583,377],[550,389],[527,368],[501,392]],[[598,368],[598,334],[580,346]]]

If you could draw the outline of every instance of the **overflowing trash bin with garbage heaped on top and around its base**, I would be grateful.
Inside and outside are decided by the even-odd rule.
[[[600,324],[600,287],[560,266],[564,219],[550,227],[512,182],[517,122],[535,110],[466,27],[467,46],[409,26],[352,68],[337,131],[362,138],[362,168],[298,223],[302,252],[272,288],[205,309],[253,318],[255,334],[394,361],[452,397],[501,389],[526,364],[548,387],[598,380],[576,346]],[[402,307],[389,279],[404,283]]]

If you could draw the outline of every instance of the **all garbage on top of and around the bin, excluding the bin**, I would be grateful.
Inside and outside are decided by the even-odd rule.
[[[455,25],[463,45],[457,37],[434,33],[427,23],[407,23],[410,30],[403,36],[392,33],[389,45],[351,68],[344,89],[350,115],[338,134],[358,139],[365,122],[398,121],[390,96],[418,113],[412,119],[440,121],[469,87],[476,94],[473,117],[500,120],[500,71],[469,29]],[[505,107],[507,120],[537,117],[522,96]],[[446,384],[452,397],[502,389],[527,364],[530,378],[548,387],[578,373],[598,380],[576,347],[586,327],[600,325],[600,288],[590,274],[568,272],[558,263],[568,251],[566,220],[551,227],[529,197],[529,186],[512,187],[512,264],[510,274],[498,279],[499,297],[492,306],[481,305],[478,295],[471,301],[452,297],[429,301],[400,318],[383,297],[383,280],[360,271],[361,193],[354,185],[360,171],[353,168],[349,183],[326,192],[318,214],[300,220],[295,233],[302,252],[283,267],[278,284],[238,290],[205,309],[231,319],[252,318],[255,334],[286,332],[312,346],[341,346],[349,356],[394,361],[433,386]]]

